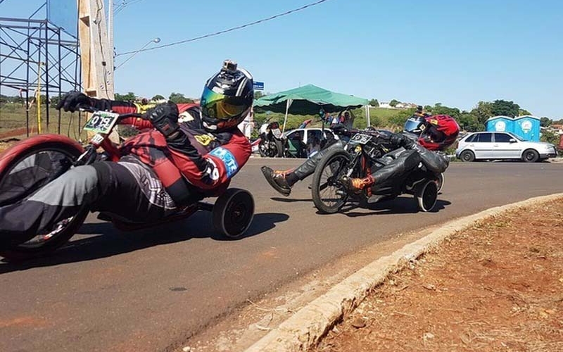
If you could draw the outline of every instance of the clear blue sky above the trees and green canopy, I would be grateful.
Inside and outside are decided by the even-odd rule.
[[[314,0],[128,2],[115,15],[118,54],[154,37],[177,42]],[[1,16],[17,16],[20,3],[5,0]],[[557,0],[328,0],[235,32],[141,52],[116,71],[115,88],[197,97],[223,59],[232,58],[265,82],[265,92],[312,83],[367,99],[464,110],[506,99],[558,120],[562,37]],[[116,65],[126,58],[118,56]]]

